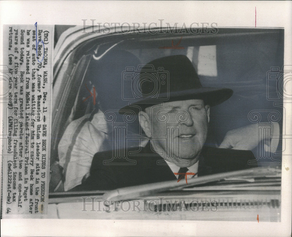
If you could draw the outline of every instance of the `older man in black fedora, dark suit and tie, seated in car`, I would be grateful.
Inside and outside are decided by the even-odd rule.
[[[152,71],[148,70],[149,65]],[[167,72],[169,80],[161,77],[156,90],[157,84],[151,78],[153,72],[161,69]],[[133,94],[140,95],[140,99],[123,107],[120,113],[131,111],[138,115],[150,141],[144,148],[128,148],[126,157],[115,159],[114,164],[107,161],[113,153],[123,151],[96,153],[90,176],[74,190],[115,189],[182,178],[177,173],[192,173],[187,177],[192,178],[249,168],[248,160],[255,159],[251,151],[204,145],[210,107],[229,99],[231,89],[202,87],[185,55],[155,59],[141,69],[138,78],[138,92]]]

